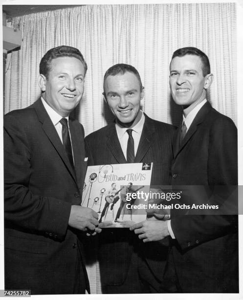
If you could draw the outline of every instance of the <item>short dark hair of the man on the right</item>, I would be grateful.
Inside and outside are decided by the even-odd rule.
[[[182,57],[185,55],[197,55],[200,57],[201,59],[201,63],[202,63],[202,75],[205,77],[206,75],[210,74],[210,63],[209,63],[209,59],[207,57],[207,55],[202,52],[201,50],[199,50],[198,48],[195,47],[184,47],[184,48],[180,48],[177,49],[173,55],[172,58],[175,58],[177,56]]]

